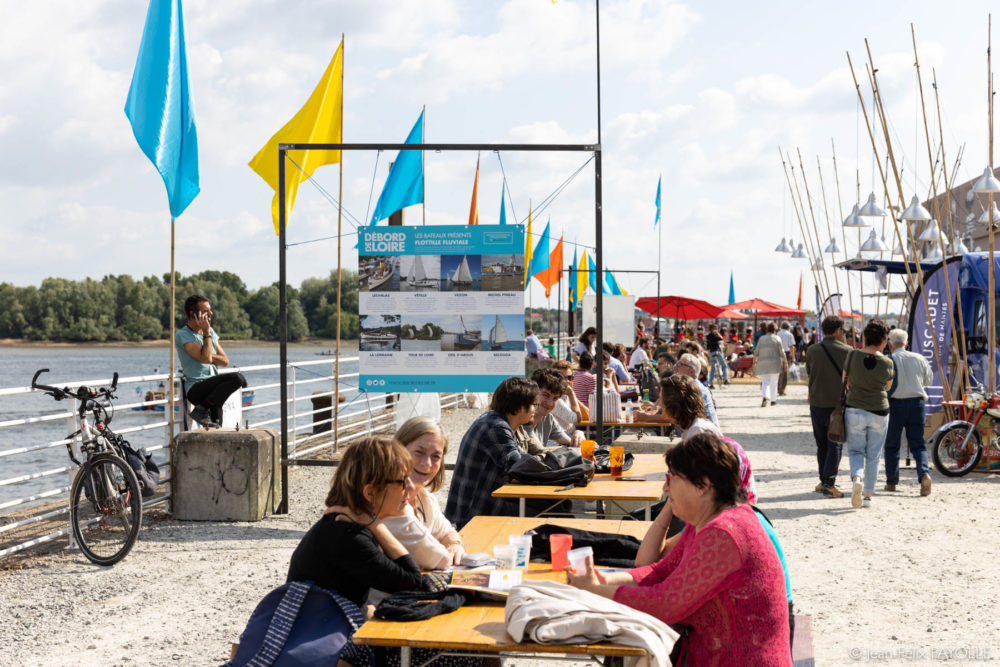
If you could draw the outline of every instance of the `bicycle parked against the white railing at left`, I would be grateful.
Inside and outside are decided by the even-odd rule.
[[[114,565],[124,558],[135,544],[142,523],[142,494],[139,481],[125,461],[125,439],[112,431],[108,424],[114,416],[111,401],[118,387],[118,373],[111,386],[93,389],[81,386],[74,392],[69,387],[39,384],[31,378],[31,388],[45,392],[57,401],[75,399],[79,428],[66,439],[66,451],[79,466],[70,487],[70,526],[83,555],[97,565]],[[106,400],[106,403],[105,403]],[[110,408],[110,410],[109,410]],[[93,423],[88,421],[92,417]],[[72,441],[81,436],[81,462],[73,454]]]

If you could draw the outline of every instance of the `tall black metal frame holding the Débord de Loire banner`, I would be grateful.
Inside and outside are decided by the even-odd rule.
[[[599,35],[600,33],[598,33]],[[600,71],[600,56],[598,56],[598,72]],[[598,77],[598,100],[600,99],[600,78]],[[598,103],[598,128],[600,128],[600,103]],[[330,150],[330,151],[509,151],[509,152],[584,152],[594,156],[594,230],[596,243],[594,255],[598,275],[604,275],[604,248],[602,240],[602,190],[601,190],[601,143],[600,129],[596,144],[382,144],[382,143],[282,143],[278,144],[278,282],[279,282],[279,314],[281,330],[281,504],[278,514],[288,513],[288,285],[286,280],[285,233],[288,221],[286,219],[285,192],[285,156],[289,151]],[[530,242],[530,240],[529,240]],[[338,269],[340,267],[338,266]],[[527,267],[525,267],[527,270]],[[601,292],[597,294],[597,347],[604,343],[601,330],[604,325],[604,300]],[[597,433],[600,441],[604,430],[604,396],[597,392]],[[599,442],[600,444],[600,442]],[[329,465],[326,462],[311,462],[299,459],[295,465]]]

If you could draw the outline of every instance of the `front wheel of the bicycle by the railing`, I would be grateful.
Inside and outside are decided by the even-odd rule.
[[[70,490],[70,523],[91,562],[114,565],[124,558],[142,523],[142,496],[132,468],[113,454],[85,463]]]

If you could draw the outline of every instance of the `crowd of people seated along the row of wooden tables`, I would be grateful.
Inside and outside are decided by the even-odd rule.
[[[644,392],[635,416],[680,436],[665,456],[666,500],[634,569],[606,574],[590,563],[567,581],[683,627],[689,664],[790,664],[794,615],[784,553],[755,509],[750,457],[721,430],[709,388],[730,382],[731,334],[710,325],[703,346],[697,338],[667,343],[637,333],[630,349],[597,349],[596,331],[588,329],[568,359],[536,359],[529,375],[503,380],[461,439],[443,510],[431,495],[443,487],[448,449],[437,423],[416,417],[393,438],[347,447],[323,514],[292,555],[288,580],[335,589],[363,615],[372,613],[373,591],[419,590],[421,570],[461,562],[459,531],[472,518],[517,515],[516,501],[493,492],[518,461],[578,447],[576,425],[590,419],[598,388],[616,391],[619,383],[652,377],[654,391]],[[697,563],[704,558],[719,566],[703,571]],[[394,664],[397,654],[382,649],[376,662]],[[371,654],[349,645],[341,659],[368,664]],[[440,664],[478,662],[451,660],[458,662]]]

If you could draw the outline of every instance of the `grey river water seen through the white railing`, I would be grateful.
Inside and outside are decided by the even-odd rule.
[[[225,341],[223,341],[225,345]],[[266,364],[277,364],[279,362],[279,347],[275,344],[229,344],[225,346],[226,353],[232,367],[240,368],[247,366],[258,366]],[[296,379],[302,381],[318,376],[330,376],[333,374],[332,356],[333,344],[296,344],[289,345],[288,358],[295,362],[329,361],[329,365],[296,367]],[[327,356],[324,353],[330,353]],[[357,342],[341,343],[341,358],[357,357]],[[93,381],[110,379],[117,371],[121,377],[152,375],[154,370],[165,373],[170,362],[170,351],[164,346],[140,347],[140,346],[94,346],[94,345],[71,345],[71,346],[28,346],[28,347],[7,347],[0,346],[0,389],[15,387],[28,387],[31,385],[31,377],[40,368],[50,369],[49,373],[39,378],[39,382],[53,386],[63,386],[69,383],[79,383],[81,381]],[[343,362],[340,365],[341,374],[357,373],[358,362],[356,360]],[[266,371],[247,372],[248,388],[253,389],[265,384],[277,383],[279,371],[277,368]],[[156,389],[157,383],[146,383],[138,386],[135,384],[119,385],[118,400],[116,403],[134,403],[139,400],[139,395],[147,390]],[[297,395],[301,399],[308,397],[315,391],[329,391],[332,381],[308,384],[297,388]],[[273,389],[255,390],[254,402],[261,404],[279,399],[279,390]],[[341,393],[347,397],[347,404],[357,398],[357,378],[350,378],[341,383]],[[309,403],[299,405],[299,411],[311,409]],[[40,417],[43,415],[56,414],[72,409],[66,402],[57,403],[49,396],[40,392],[22,394],[16,396],[0,396],[0,422],[23,419],[28,417]],[[344,408],[351,410],[352,408]],[[356,409],[356,406],[355,408]],[[251,422],[261,422],[279,416],[278,406],[270,406],[251,411],[245,415],[245,419]],[[119,410],[115,413],[112,428],[122,430],[131,426],[151,424],[162,421],[163,412]],[[311,419],[311,417],[307,417]],[[274,428],[278,426],[272,425]],[[40,424],[27,424],[24,426],[12,426],[0,428],[0,452],[12,448],[20,448],[31,445],[38,445],[47,442],[61,440],[71,431],[66,420],[55,420],[42,422]],[[155,428],[148,431],[131,433],[126,436],[133,445],[139,447],[152,447],[165,444],[166,429]],[[166,458],[165,451],[154,454],[154,460],[162,462]],[[70,464],[65,447],[52,447],[27,454],[17,454],[0,458],[0,479],[9,479],[20,475],[37,473],[43,470],[60,468]],[[14,498],[22,498],[35,494],[41,490],[68,485],[66,474],[57,474],[38,480],[30,480],[16,484],[0,485],[0,503]]]

